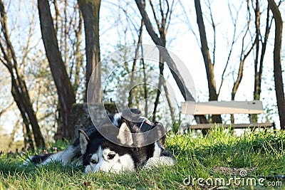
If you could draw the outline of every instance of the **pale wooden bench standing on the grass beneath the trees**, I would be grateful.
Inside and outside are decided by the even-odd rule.
[[[221,114],[249,114],[249,123],[244,124],[229,124],[223,125],[222,123],[217,123],[219,127],[231,127],[232,129],[238,128],[265,128],[273,127],[275,130],[275,124],[271,122],[257,123],[252,122],[252,114],[260,114],[264,112],[262,102],[259,100],[254,101],[228,101],[228,102],[218,102],[218,101],[209,101],[209,102],[182,102],[181,103],[182,114],[190,115],[221,115]],[[183,128],[190,128],[195,130],[209,129],[214,124],[197,124],[190,125]]]

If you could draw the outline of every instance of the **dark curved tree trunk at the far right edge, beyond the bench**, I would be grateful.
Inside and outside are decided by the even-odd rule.
[[[284,100],[284,85],[282,79],[281,68],[281,41],[282,41],[282,26],[283,22],[278,6],[274,0],[268,0],[269,7],[272,11],[275,21],[275,40],[274,40],[274,83],[276,91],[276,100],[280,120],[281,130],[285,130],[285,100]]]

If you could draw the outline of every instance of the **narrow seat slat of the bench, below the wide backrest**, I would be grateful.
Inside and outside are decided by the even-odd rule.
[[[224,128],[229,128],[231,126],[232,129],[244,129],[244,128],[254,128],[254,127],[275,127],[274,123],[271,122],[264,122],[264,123],[249,123],[249,124],[229,124],[229,125],[222,125],[222,123],[218,123],[218,124],[213,124],[213,123],[209,123],[209,124],[197,124],[197,125],[190,125],[190,129],[192,130],[202,130],[202,129],[210,129],[212,128],[214,125],[217,125],[218,127],[224,127]],[[185,129],[187,129],[188,127],[183,127]]]

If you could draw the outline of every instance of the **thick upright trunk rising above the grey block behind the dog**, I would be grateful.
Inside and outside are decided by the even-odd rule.
[[[102,102],[101,89],[101,68],[100,68],[100,43],[99,43],[99,13],[100,0],[86,1],[78,0],[79,8],[81,9],[85,38],[86,38],[86,101],[87,88],[91,75],[94,70],[95,80],[92,81],[95,85],[93,94],[93,102]],[[85,102],[86,102],[85,101]]]

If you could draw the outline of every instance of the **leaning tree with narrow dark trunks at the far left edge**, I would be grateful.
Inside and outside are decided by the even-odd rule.
[[[6,11],[4,8],[4,3],[0,1],[0,12],[1,12],[1,63],[3,63],[9,70],[11,75],[11,93],[14,97],[16,105],[19,107],[21,116],[23,118],[24,125],[26,127],[26,134],[28,136],[28,143],[33,149],[33,139],[36,143],[36,147],[44,147],[45,142],[43,140],[43,135],[41,134],[40,127],[38,125],[38,120],[36,114],[33,110],[31,104],[30,96],[28,95],[28,89],[26,87],[26,82],[21,75],[18,67],[18,61],[16,58],[16,53],[14,47],[10,41],[10,34],[8,31],[8,23],[6,18]],[[28,43],[29,44],[29,43]],[[27,45],[29,46],[29,45]],[[31,129],[30,129],[31,126]],[[32,138],[32,133],[33,138]]]

